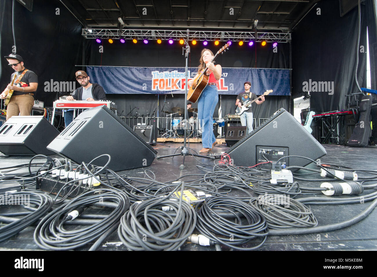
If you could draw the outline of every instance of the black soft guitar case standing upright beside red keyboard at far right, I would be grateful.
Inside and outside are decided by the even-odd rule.
[[[359,121],[357,121],[352,135],[347,142],[348,146],[365,147],[368,145],[369,138],[372,135],[370,124],[371,107],[372,96],[364,95],[360,102]]]

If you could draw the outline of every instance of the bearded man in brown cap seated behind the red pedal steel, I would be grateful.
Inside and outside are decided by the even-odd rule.
[[[94,100],[106,100],[106,94],[99,84],[91,84],[90,77],[86,74],[83,70],[78,70],[76,72],[76,80],[81,85],[78,89],[76,89],[72,95],[67,96],[66,100],[74,101],[74,100],[86,100],[86,101],[94,101]],[[64,123],[66,127],[73,121],[73,110],[67,110],[64,113]]]

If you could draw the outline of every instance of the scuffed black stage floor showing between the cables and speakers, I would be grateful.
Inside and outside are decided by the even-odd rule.
[[[158,151],[158,155],[169,155],[180,152],[181,144],[170,143],[170,146],[166,147],[158,145],[155,149]],[[351,148],[343,145],[323,145],[326,149],[327,155],[321,158],[322,163],[337,164],[350,168],[361,168],[366,170],[376,170],[377,161],[377,148]],[[189,145],[193,150],[199,151],[201,144],[191,143]],[[213,148],[212,153],[220,153],[225,151],[228,147],[216,146]],[[130,157],[129,157],[130,158]],[[29,162],[29,157],[2,157],[0,158],[0,167],[7,167],[10,165],[24,164]],[[175,158],[163,158],[155,159],[150,167],[137,168],[127,171],[121,171],[121,174],[127,174],[127,176],[144,177],[144,170],[152,171],[156,180],[161,182],[168,182],[178,179],[186,174],[204,174],[197,165],[210,164],[213,165],[214,161],[204,158],[193,158],[187,156],[185,158],[185,167],[183,170],[179,169],[182,163],[182,157],[176,156]],[[201,164],[204,163],[204,164]],[[308,165],[310,168],[316,168],[315,165]],[[303,171],[298,171],[302,173]],[[319,178],[318,174],[315,174],[316,178]],[[304,175],[308,178],[314,178],[312,174]],[[189,178],[190,179],[190,178]],[[183,179],[185,180],[185,179]],[[301,186],[305,187],[319,187],[320,182],[308,182],[299,181]],[[369,182],[368,184],[374,184]],[[372,193],[374,190],[366,190],[364,194]],[[233,193],[233,192],[232,192]],[[233,194],[236,197],[237,192]],[[322,194],[316,194],[315,197],[325,197]],[[342,196],[344,198],[351,196]],[[362,202],[362,201],[360,201]],[[357,216],[367,207],[372,204],[372,201],[365,202],[364,204],[344,204],[344,205],[308,205],[314,216],[318,221],[318,226],[329,225],[333,223],[343,222],[349,220],[354,216]],[[287,235],[287,236],[267,236],[265,243],[258,249],[260,251],[270,250],[377,250],[377,209],[372,212],[360,222],[335,231],[324,231],[320,233],[311,233],[303,235]],[[38,246],[33,240],[33,231],[35,226],[27,227],[19,234],[11,237],[10,239],[0,242],[0,250],[37,250]],[[194,231],[194,233],[196,233]],[[247,245],[255,246],[261,239],[255,239],[254,242],[249,242]],[[87,250],[90,245],[86,245],[76,250]],[[185,243],[181,246],[181,250],[192,251],[214,251],[215,246],[200,246],[192,243]],[[221,246],[224,251],[229,250],[228,246]],[[114,231],[107,239],[102,243],[97,250],[100,251],[120,251],[127,250],[127,248],[121,243],[117,232]]]

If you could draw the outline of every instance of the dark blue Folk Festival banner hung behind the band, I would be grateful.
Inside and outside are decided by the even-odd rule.
[[[110,67],[87,66],[91,83],[100,84],[106,93],[185,93],[185,69],[182,67]],[[188,80],[197,69],[189,68]],[[222,68],[218,84],[219,94],[235,95],[244,91],[250,81],[250,91],[261,95],[272,89],[270,95],[290,95],[289,69]]]

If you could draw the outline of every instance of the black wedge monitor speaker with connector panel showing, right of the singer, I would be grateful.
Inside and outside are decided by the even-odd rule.
[[[278,110],[250,134],[226,151],[234,165],[253,166],[260,162],[277,161],[284,156],[303,156],[316,160],[326,155],[323,146],[284,109]],[[287,166],[308,165],[303,158],[283,158]],[[262,164],[270,167],[270,164]]]

